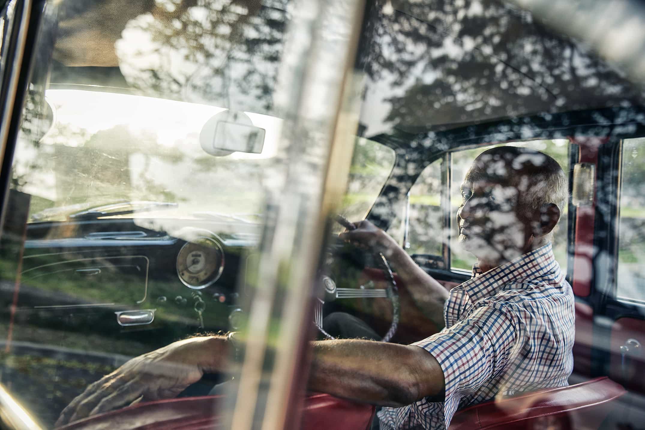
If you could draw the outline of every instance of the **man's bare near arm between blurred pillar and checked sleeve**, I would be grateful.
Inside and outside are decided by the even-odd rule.
[[[443,395],[441,367],[420,347],[372,340],[323,340],[312,347],[312,391],[393,407]]]

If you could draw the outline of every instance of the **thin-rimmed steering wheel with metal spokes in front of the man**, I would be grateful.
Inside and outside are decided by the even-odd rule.
[[[347,230],[355,229],[352,222],[342,215],[337,215],[336,220]],[[394,274],[392,273],[392,268],[390,268],[388,260],[380,252],[375,255],[375,257],[375,260],[385,273],[385,280],[388,284],[387,288],[364,288],[364,286],[361,286],[360,288],[337,288],[333,279],[328,276],[322,277],[321,286],[324,288],[324,299],[316,299],[313,313],[313,324],[315,324],[324,337],[335,339],[335,337],[323,329],[323,306],[325,302],[346,298],[388,298],[390,304],[392,304],[392,324],[390,324],[390,328],[383,336],[382,342],[390,342],[396,333],[397,327],[399,326],[399,318],[401,317],[399,289],[397,288],[397,282],[394,279]]]

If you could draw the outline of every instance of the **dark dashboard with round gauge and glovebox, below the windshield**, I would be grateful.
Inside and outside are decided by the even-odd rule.
[[[76,327],[148,347],[200,331],[237,329],[244,315],[239,291],[257,249],[259,226],[165,221],[28,224],[17,318],[30,326]],[[8,309],[12,286],[2,288],[0,300]]]

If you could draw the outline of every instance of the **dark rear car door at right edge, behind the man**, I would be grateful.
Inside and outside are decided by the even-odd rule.
[[[643,419],[645,311],[642,302],[642,137],[609,139],[598,151],[593,278],[592,371],[629,389],[621,422]]]

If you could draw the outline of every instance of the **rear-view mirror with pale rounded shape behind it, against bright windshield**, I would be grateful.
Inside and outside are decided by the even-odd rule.
[[[264,147],[264,128],[253,125],[244,112],[221,112],[206,121],[199,133],[199,143],[211,155],[233,152],[259,154]]]

